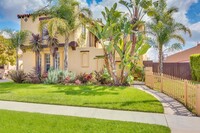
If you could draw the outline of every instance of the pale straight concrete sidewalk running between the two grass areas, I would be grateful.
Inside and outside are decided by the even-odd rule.
[[[172,133],[200,133],[198,117],[8,101],[0,101],[0,109],[158,124],[170,127]]]

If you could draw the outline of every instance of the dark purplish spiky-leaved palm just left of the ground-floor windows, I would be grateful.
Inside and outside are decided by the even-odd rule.
[[[33,52],[35,52],[36,56],[36,73],[39,76],[41,74],[41,68],[40,68],[40,51],[42,50],[42,38],[39,34],[33,34],[32,38],[30,40],[31,49]]]

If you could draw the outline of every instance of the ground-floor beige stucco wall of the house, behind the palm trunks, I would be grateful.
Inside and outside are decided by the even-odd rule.
[[[64,66],[64,49],[59,48],[58,53],[60,54],[60,69]],[[44,73],[45,69],[45,54],[50,54],[49,48],[43,49],[41,52],[41,69]],[[93,71],[100,71],[103,69],[104,60],[95,59],[98,55],[103,55],[102,49],[97,48],[77,48],[72,50],[69,48],[69,71],[76,74],[80,73],[91,73]],[[35,54],[31,51],[26,51],[23,55],[23,68],[25,72],[31,72],[35,68]],[[51,67],[53,66],[53,57],[50,56]]]

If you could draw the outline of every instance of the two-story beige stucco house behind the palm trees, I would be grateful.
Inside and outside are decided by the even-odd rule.
[[[47,16],[38,17],[35,21],[32,20],[31,14],[18,15],[21,23],[21,30],[28,30],[34,34],[41,34],[39,32],[39,24],[49,19]],[[84,37],[83,37],[84,35]],[[41,34],[42,36],[42,34]],[[31,38],[31,37],[30,37]],[[29,40],[30,40],[29,38]],[[25,45],[30,45],[27,40]],[[57,50],[57,56],[55,60],[55,66],[58,69],[64,68],[64,37],[58,36],[59,48]],[[103,55],[103,50],[98,44],[97,38],[81,25],[74,32],[70,34],[69,45],[72,43],[78,43],[78,47],[73,49],[69,47],[68,51],[68,69],[69,71],[79,73],[90,73],[93,71],[99,71],[103,68],[104,60],[96,58]],[[50,67],[53,66],[53,57],[50,54],[50,48],[47,44],[43,44],[41,51],[40,67],[41,71],[47,72]],[[25,72],[31,72],[36,67],[36,56],[31,50],[27,50],[23,53],[23,70]]]

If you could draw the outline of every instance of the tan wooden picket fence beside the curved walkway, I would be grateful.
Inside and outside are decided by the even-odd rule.
[[[200,85],[189,80],[153,73],[152,67],[145,69],[145,84],[173,97],[200,116]]]

